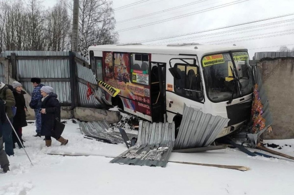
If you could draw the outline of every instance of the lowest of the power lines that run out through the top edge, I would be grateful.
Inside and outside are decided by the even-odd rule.
[[[121,30],[118,30],[116,32],[129,31],[129,30],[133,30],[133,29],[136,29],[136,28],[142,28],[142,27],[146,27],[146,26],[151,26],[153,24],[158,24],[158,23],[163,23],[163,22],[175,20],[175,19],[180,19],[180,18],[184,18],[184,17],[187,17],[187,16],[192,16],[192,15],[195,15],[195,14],[200,14],[200,13],[204,13],[204,12],[207,12],[207,11],[220,9],[220,8],[227,7],[227,6],[231,6],[231,5],[234,5],[234,4],[243,3],[245,1],[249,1],[249,0],[233,1],[233,2],[230,2],[230,3],[227,3],[227,4],[222,4],[222,5],[219,5],[219,6],[203,9],[203,10],[200,10],[200,11],[191,12],[191,13],[183,14],[183,15],[180,15],[180,16],[175,16],[175,17],[172,17],[172,18],[163,19],[163,20],[156,21],[156,22],[151,22],[151,23],[146,23],[146,24],[143,24],[143,25],[138,25],[138,26],[133,26],[133,27],[130,27],[130,28],[121,29]]]

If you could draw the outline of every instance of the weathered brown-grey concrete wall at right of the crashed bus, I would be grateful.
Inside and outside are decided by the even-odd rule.
[[[264,139],[294,138],[294,58],[264,58],[263,86],[268,95],[273,114],[273,133],[265,133]]]

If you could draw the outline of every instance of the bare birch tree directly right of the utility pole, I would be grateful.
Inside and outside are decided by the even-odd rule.
[[[63,2],[72,14],[72,1],[63,0]],[[79,4],[78,51],[83,56],[87,56],[89,46],[116,43],[118,34],[115,32],[112,1],[80,0]]]

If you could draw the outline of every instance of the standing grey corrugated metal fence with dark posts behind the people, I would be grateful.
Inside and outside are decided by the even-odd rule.
[[[69,51],[5,51],[1,56],[11,61],[12,77],[29,94],[33,91],[31,78],[38,77],[42,84],[54,88],[63,106],[101,106],[93,96],[89,100],[86,97],[88,82],[98,87],[87,58]]]

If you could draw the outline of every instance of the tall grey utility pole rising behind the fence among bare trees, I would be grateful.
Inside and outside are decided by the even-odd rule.
[[[71,51],[78,51],[78,9],[79,0],[74,0],[73,34],[71,37]]]

